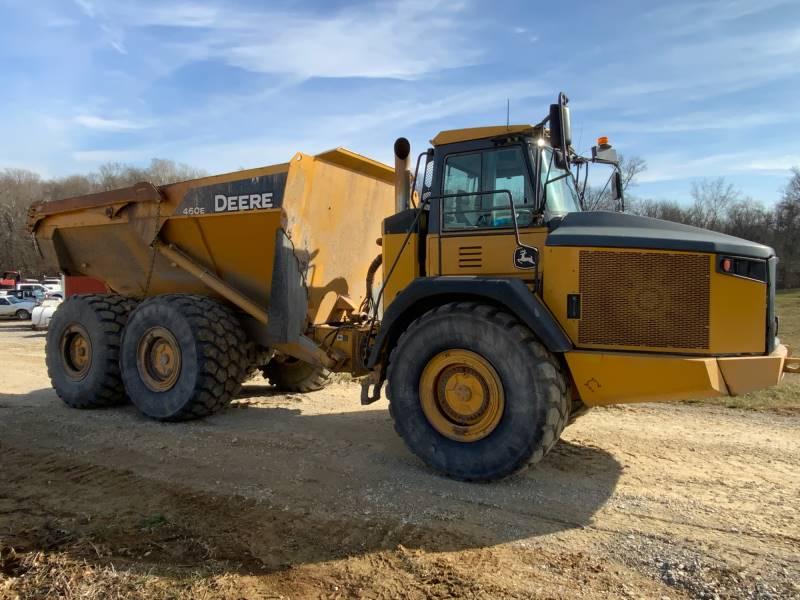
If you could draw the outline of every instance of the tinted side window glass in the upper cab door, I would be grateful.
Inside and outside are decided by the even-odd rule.
[[[442,201],[444,230],[512,227],[508,194],[469,192],[507,190],[517,207],[517,223],[530,225],[533,195],[522,148],[512,146],[448,156],[442,194],[459,194]]]

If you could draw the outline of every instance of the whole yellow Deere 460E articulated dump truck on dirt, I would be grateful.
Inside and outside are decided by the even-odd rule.
[[[590,165],[611,167],[624,209],[621,177],[607,139],[574,152],[567,102],[536,125],[441,132],[416,161],[400,138],[394,169],[336,149],[34,205],[44,258],[108,288],[54,315],[56,392],[177,421],[258,370],[294,392],[346,371],[364,404],[386,384],[426,464],[485,481],[540,460],[589,407],[798,371],[777,338],[773,250],[583,211]]]

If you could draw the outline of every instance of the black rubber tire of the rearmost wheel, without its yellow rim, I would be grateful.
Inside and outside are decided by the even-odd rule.
[[[45,362],[56,394],[72,408],[102,408],[125,402],[119,369],[122,332],[135,301],[114,294],[88,294],[67,298],[53,314],[47,328]],[[61,340],[68,327],[82,326],[92,347],[85,377],[70,378],[61,359]]]

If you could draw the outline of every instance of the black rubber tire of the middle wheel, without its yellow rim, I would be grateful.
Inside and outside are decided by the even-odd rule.
[[[180,372],[165,391],[148,387],[137,363],[139,342],[154,327],[168,330],[180,348]],[[248,343],[236,315],[219,302],[189,294],[155,296],[133,311],[125,328],[120,357],[125,390],[139,411],[153,419],[206,417],[239,392]]]

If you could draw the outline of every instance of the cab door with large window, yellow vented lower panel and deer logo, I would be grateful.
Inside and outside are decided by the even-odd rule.
[[[446,155],[436,211],[439,231],[428,236],[427,272],[534,283],[536,257],[518,250],[509,202],[510,193],[520,242],[541,249],[547,227],[536,221],[530,173],[521,145]]]

